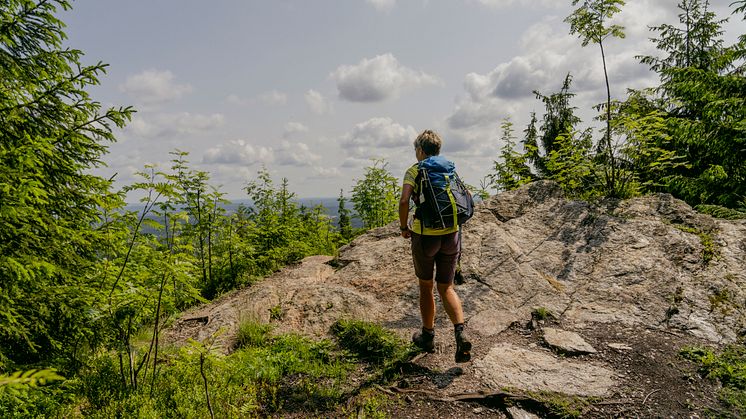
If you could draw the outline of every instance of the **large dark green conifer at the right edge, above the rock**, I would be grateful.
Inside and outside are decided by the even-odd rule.
[[[706,1],[684,0],[679,9],[679,26],[652,28],[662,56],[641,61],[658,73],[661,85],[639,95],[665,124],[667,141],[650,145],[684,164],[659,169],[657,178],[643,172],[641,178],[661,179],[665,191],[690,205],[737,208],[746,196],[746,36],[725,46],[726,19],[717,19]]]

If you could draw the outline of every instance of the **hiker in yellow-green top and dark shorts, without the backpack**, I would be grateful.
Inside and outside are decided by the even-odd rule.
[[[439,155],[441,144],[442,140],[438,134],[430,130],[423,131],[414,140],[417,162]],[[427,352],[433,352],[435,349],[434,281],[443,307],[453,323],[456,337],[456,362],[467,362],[471,359],[471,341],[464,332],[464,312],[461,308],[461,300],[453,287],[453,278],[461,252],[459,226],[454,225],[443,229],[426,228],[415,217],[410,228],[409,201],[410,198],[417,197],[420,193],[415,181],[418,163],[407,169],[399,199],[401,236],[405,239],[411,238],[414,271],[419,279],[420,288],[422,330],[412,336],[412,342]]]

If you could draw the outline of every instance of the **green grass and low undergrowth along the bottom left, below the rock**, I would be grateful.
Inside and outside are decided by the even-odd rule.
[[[313,341],[273,336],[268,325],[242,322],[232,354],[198,342],[167,348],[155,380],[148,376],[136,389],[123,384],[119,358],[102,352],[61,384],[0,391],[0,411],[3,417],[204,418],[212,407],[215,417],[226,418],[324,416],[360,391],[348,378],[361,362],[380,379],[411,353],[395,334],[370,323],[338,322],[334,333],[338,342]],[[365,406],[370,413],[377,410],[375,402]]]

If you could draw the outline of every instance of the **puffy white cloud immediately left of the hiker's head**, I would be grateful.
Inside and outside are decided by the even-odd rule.
[[[417,136],[412,126],[403,126],[391,118],[371,118],[345,134],[341,145],[353,156],[371,156],[374,149],[408,147]]]

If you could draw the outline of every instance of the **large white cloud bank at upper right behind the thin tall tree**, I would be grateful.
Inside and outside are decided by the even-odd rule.
[[[662,3],[654,0],[628,2],[615,17],[613,23],[625,26],[627,38],[610,38],[605,43],[613,97],[623,98],[626,88],[645,87],[655,82],[655,75],[640,64],[635,55],[654,53],[654,46],[648,40],[648,26],[675,21],[676,11],[670,4]],[[573,104],[580,113],[590,112],[593,105],[605,100],[598,47],[582,47],[580,40],[568,32],[561,17],[549,18],[523,34],[520,41],[523,54],[498,64],[487,73],[467,74],[465,94],[447,119],[449,128],[492,129],[506,117],[527,118],[531,110],[541,112],[543,106],[532,91],[556,92],[568,73],[573,77],[572,91],[577,95]]]

